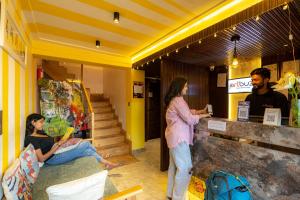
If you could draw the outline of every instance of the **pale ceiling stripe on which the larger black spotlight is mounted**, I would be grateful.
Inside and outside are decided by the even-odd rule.
[[[98,21],[111,22],[112,26],[118,26],[118,27],[129,29],[129,30],[134,30],[136,32],[140,32],[145,35],[151,36],[151,35],[153,35],[153,33],[157,33],[159,31],[159,30],[149,27],[147,25],[140,24],[136,21],[126,19],[125,17],[122,16],[122,13],[120,13],[120,23],[114,24],[113,23],[113,13],[108,12],[106,10],[96,8],[94,6],[90,6],[85,3],[81,3],[79,1],[43,0],[43,2],[53,5],[53,6],[63,8],[65,10],[69,10],[69,11],[81,14],[81,15],[85,15],[87,17],[91,17]],[[72,5],[72,6],[70,6],[70,5]]]

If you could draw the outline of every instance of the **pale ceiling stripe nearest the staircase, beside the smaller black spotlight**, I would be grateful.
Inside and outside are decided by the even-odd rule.
[[[24,12],[24,14],[26,16],[29,15],[28,12]],[[128,37],[122,36],[117,33],[105,31],[105,30],[98,29],[98,28],[95,28],[95,27],[92,27],[89,25],[66,20],[66,19],[63,19],[60,17],[48,15],[48,14],[41,13],[38,11],[34,11],[34,15],[36,17],[37,23],[53,26],[53,27],[60,28],[60,29],[69,30],[69,31],[84,34],[84,35],[89,35],[91,37],[99,38],[100,40],[106,39],[106,40],[109,40],[112,42],[117,41],[118,43],[125,44],[127,46],[136,46],[140,42],[136,39],[128,38]],[[31,19],[29,18],[28,21],[29,20],[31,20]],[[29,21],[29,23],[30,23],[30,21]]]

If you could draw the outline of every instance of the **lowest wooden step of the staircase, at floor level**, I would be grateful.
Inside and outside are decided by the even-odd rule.
[[[98,147],[96,149],[102,155],[119,156],[119,155],[126,155],[130,153],[130,146],[127,143],[105,146],[104,148]]]

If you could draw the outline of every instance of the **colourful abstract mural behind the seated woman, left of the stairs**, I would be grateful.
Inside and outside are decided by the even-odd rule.
[[[62,136],[68,127],[76,132],[88,129],[87,115],[83,105],[83,93],[79,83],[39,80],[41,114],[45,116],[45,132]]]

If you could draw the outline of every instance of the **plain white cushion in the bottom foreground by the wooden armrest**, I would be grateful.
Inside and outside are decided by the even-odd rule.
[[[47,188],[49,200],[98,200],[103,197],[107,170]]]

